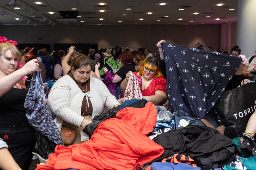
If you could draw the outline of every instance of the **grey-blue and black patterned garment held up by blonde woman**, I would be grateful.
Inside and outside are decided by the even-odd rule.
[[[61,134],[43,102],[44,86],[40,72],[34,72],[26,79],[24,107],[29,124],[36,130],[40,156],[47,159],[54,153],[56,145],[63,145]]]

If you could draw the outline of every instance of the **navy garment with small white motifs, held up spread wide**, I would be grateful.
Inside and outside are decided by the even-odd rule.
[[[205,119],[242,59],[169,43],[162,43],[162,50],[172,110]]]

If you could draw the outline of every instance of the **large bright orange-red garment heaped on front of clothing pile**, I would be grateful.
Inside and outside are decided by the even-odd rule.
[[[136,169],[163,153],[163,147],[145,135],[153,130],[156,115],[152,102],[144,108],[124,108],[116,114],[118,119],[100,123],[90,140],[56,146],[46,164],[38,164],[37,169]]]

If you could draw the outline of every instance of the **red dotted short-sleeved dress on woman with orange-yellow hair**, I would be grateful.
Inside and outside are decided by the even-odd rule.
[[[138,79],[139,87],[141,89],[141,93],[143,96],[153,96],[155,95],[155,91],[163,91],[166,93],[166,79],[163,77],[154,77],[150,82],[149,86],[142,90],[142,82],[141,82],[141,75],[138,72],[133,72],[134,75]]]

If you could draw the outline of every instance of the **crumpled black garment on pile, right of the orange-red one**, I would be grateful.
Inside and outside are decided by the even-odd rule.
[[[223,167],[234,160],[240,151],[225,135],[206,126],[187,126],[184,129],[168,131],[153,139],[164,147],[163,154],[153,162],[175,153],[190,155],[200,166],[209,164],[212,168]]]

